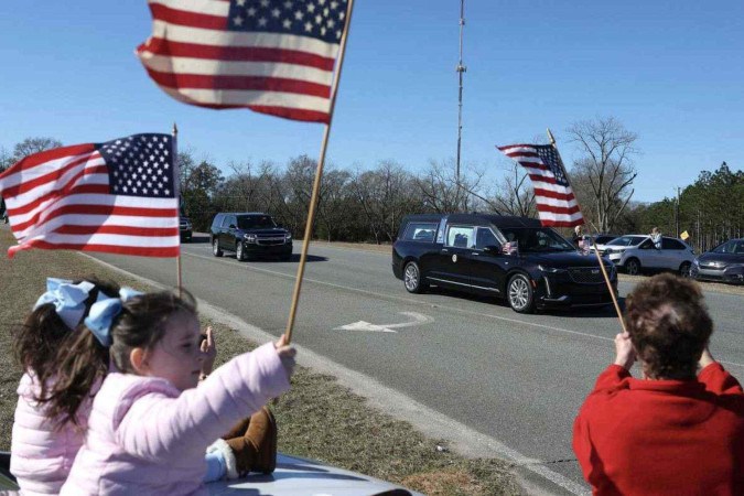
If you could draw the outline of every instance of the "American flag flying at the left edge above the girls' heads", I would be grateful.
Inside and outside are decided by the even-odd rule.
[[[30,248],[177,257],[177,171],[169,134],[29,155],[0,174],[11,229]]]

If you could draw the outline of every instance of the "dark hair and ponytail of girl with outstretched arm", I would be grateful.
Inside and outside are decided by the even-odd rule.
[[[129,362],[131,351],[154,346],[165,334],[169,319],[181,311],[196,314],[196,302],[185,290],[181,298],[168,291],[141,294],[126,301],[111,322],[110,348],[85,327],[71,336],[55,356],[55,380],[47,392],[46,418],[57,425],[77,423],[77,410],[97,392],[94,388],[108,374],[109,359],[118,370],[134,374]]]

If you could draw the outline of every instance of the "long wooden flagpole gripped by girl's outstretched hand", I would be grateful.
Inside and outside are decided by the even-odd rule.
[[[310,237],[313,233],[313,222],[315,219],[315,206],[317,205],[317,194],[321,190],[321,179],[323,176],[323,165],[325,163],[325,151],[328,145],[328,137],[331,136],[331,123],[333,122],[333,110],[336,106],[336,95],[338,94],[338,82],[341,80],[341,69],[344,66],[344,54],[346,53],[346,41],[348,40],[348,32],[352,28],[352,12],[354,10],[354,0],[348,0],[346,6],[346,29],[341,35],[341,45],[338,47],[338,68],[333,75],[333,94],[331,95],[331,106],[328,111],[328,122],[325,125],[323,131],[323,143],[321,144],[321,155],[317,160],[317,169],[315,170],[315,181],[313,182],[313,193],[310,197],[310,209],[308,211],[308,222],[305,224],[305,236],[302,240],[302,252],[300,255],[300,266],[298,267],[298,276],[294,281],[294,293],[292,294],[292,306],[290,308],[289,320],[287,322],[287,343],[292,341],[292,328],[294,327],[294,319],[300,302],[300,291],[302,290],[302,278],[305,273],[305,262],[308,260],[308,248],[310,247]]]

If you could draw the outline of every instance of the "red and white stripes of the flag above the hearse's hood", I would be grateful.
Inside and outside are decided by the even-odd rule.
[[[571,185],[563,186],[556,182],[556,176],[542,162],[533,145],[510,144],[497,148],[527,170],[532,181],[535,203],[543,226],[574,227],[584,224],[584,217],[581,215],[581,208]]]

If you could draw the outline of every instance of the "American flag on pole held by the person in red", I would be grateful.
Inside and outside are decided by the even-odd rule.
[[[573,227],[584,224],[556,147],[509,144],[497,148],[527,170],[532,180],[535,201],[543,226]]]

